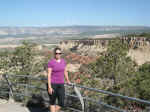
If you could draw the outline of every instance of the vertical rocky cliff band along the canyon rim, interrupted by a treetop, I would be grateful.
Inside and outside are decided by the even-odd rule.
[[[130,48],[150,46],[150,39],[146,37],[120,37],[122,42],[127,42]],[[62,49],[76,50],[82,47],[107,48],[110,39],[86,39],[86,40],[65,40],[60,42]]]

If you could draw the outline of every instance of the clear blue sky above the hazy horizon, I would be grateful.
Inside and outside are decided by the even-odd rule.
[[[150,26],[150,0],[0,0],[0,26]]]

